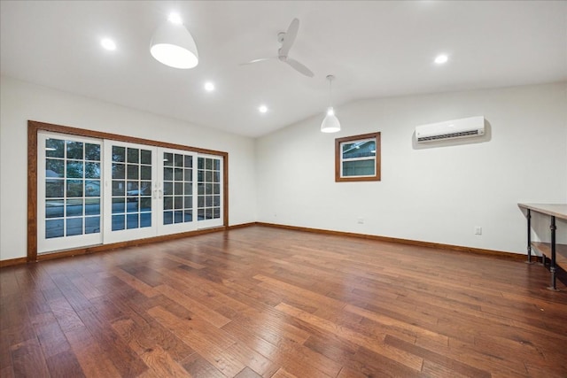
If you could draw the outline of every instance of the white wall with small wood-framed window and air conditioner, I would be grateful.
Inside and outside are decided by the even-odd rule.
[[[259,221],[524,253],[517,203],[567,202],[564,82],[373,99],[336,111],[338,134],[319,132],[321,115],[257,141]],[[416,125],[477,115],[489,129],[480,141],[412,143]],[[335,182],[334,139],[375,131],[382,181]]]

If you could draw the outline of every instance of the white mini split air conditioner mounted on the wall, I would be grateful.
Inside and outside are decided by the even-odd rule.
[[[419,143],[445,141],[485,135],[485,117],[470,117],[461,120],[446,120],[416,127],[416,140]]]

